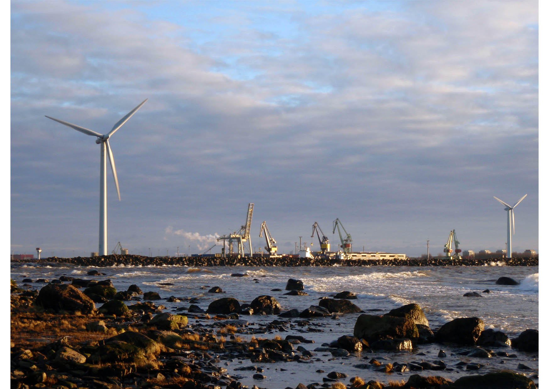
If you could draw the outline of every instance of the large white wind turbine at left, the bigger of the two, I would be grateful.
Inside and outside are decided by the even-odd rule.
[[[142,105],[145,104],[147,99],[143,100],[140,105],[136,106],[133,110],[128,112],[126,116],[120,119],[108,133],[102,135],[98,132],[92,131],[84,127],[80,127],[63,120],[54,119],[53,117],[46,116],[48,119],[55,120],[65,126],[76,129],[96,138],[96,143],[101,146],[100,157],[100,246],[99,255],[107,255],[107,154],[109,155],[109,162],[111,163],[111,170],[113,171],[114,184],[117,186],[118,200],[120,201],[120,190],[118,188],[117,169],[114,167],[113,152],[111,146],[109,146],[109,138],[117,132],[117,130],[124,125],[125,122],[132,117],[138,111]]]

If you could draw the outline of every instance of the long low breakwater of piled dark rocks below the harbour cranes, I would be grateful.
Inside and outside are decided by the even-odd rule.
[[[269,257],[146,257],[141,255],[106,255],[101,257],[43,258],[35,263],[72,263],[79,266],[489,266],[494,263],[505,266],[538,266],[538,257],[483,258],[452,260],[447,258],[407,258],[406,260],[339,260],[336,258]]]

